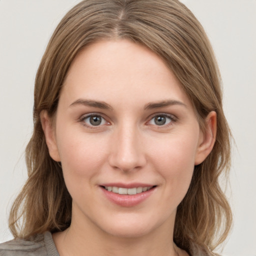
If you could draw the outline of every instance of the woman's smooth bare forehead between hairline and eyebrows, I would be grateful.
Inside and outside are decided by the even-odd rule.
[[[70,65],[62,94],[117,104],[167,98],[190,104],[164,61],[127,39],[101,40],[81,50]]]

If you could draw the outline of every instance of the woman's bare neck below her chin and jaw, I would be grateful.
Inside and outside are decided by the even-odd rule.
[[[117,233],[111,233],[111,230],[106,232],[76,211],[72,214],[70,227],[63,232],[54,233],[52,237],[60,256],[187,255],[173,243],[174,221],[175,214],[149,231],[139,231],[137,228],[136,233],[132,231],[129,235],[126,229]]]

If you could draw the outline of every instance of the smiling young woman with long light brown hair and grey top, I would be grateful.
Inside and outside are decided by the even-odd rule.
[[[34,88],[28,180],[2,255],[214,255],[230,131],[209,41],[177,0],[85,0]],[[21,226],[19,227],[19,220]]]

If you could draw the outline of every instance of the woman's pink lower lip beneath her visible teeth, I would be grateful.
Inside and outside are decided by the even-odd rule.
[[[143,202],[146,198],[148,198],[153,191],[155,190],[155,187],[152,187],[151,189],[137,193],[137,194],[118,194],[114,192],[107,191],[105,188],[100,187],[107,199],[112,201],[113,203],[124,206],[124,207],[131,207],[135,206],[141,202]]]

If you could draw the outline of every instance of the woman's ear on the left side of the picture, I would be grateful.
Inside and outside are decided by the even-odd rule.
[[[46,110],[42,110],[40,112],[40,120],[50,157],[55,161],[60,161],[54,127],[52,125],[52,120]]]

